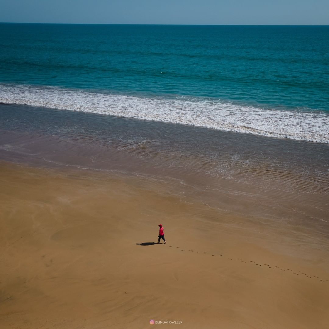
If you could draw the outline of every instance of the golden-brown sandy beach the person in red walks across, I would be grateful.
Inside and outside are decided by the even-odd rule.
[[[1,164],[0,184],[2,329],[328,328],[328,245],[138,178]]]

